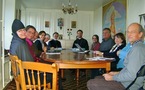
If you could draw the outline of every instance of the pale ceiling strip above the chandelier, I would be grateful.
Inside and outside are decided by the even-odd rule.
[[[61,9],[62,3],[68,5],[69,0],[21,0],[26,8]],[[78,10],[94,11],[112,0],[71,0],[72,5],[78,6]]]

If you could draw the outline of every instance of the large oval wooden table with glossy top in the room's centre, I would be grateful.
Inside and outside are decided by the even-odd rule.
[[[110,71],[110,63],[112,60],[105,61],[90,61],[86,58],[94,57],[90,52],[89,54],[84,53],[73,53],[71,50],[62,50],[61,54],[47,54],[46,61],[55,62],[58,68],[63,69],[77,69],[77,77],[79,79],[79,69],[90,69],[90,68],[105,68],[107,72]],[[61,72],[63,77],[63,72]]]

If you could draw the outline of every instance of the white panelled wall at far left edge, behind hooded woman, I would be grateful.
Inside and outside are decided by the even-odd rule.
[[[5,49],[9,49],[10,41],[11,41],[11,26],[12,22],[14,20],[15,16],[15,0],[2,0],[3,4],[3,33],[1,33],[1,39],[3,40],[2,47]],[[4,48],[2,48],[2,52],[4,53]],[[2,70],[2,86],[0,85],[0,89],[2,89],[5,85],[8,84],[10,81],[10,67],[9,67],[9,59],[4,57],[4,54],[2,55],[1,61],[1,70]],[[1,71],[0,71],[1,72]],[[1,82],[0,82],[1,83]]]

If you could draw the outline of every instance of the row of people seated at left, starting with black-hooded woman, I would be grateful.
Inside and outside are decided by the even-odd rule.
[[[45,32],[40,31],[39,33],[36,32],[36,29],[32,25],[28,25],[26,28],[23,23],[15,19],[12,24],[12,41],[10,45],[10,54],[16,55],[22,61],[30,61],[30,62],[41,62],[52,64],[52,62],[46,62],[43,60],[43,55],[45,55],[46,47],[45,43],[43,42],[45,37]],[[39,36],[39,38],[37,37]],[[37,47],[37,46],[41,47]],[[26,74],[26,72],[25,72]],[[31,73],[30,73],[31,74]],[[34,74],[37,72],[34,71]],[[43,73],[40,73],[40,81],[43,84]],[[52,82],[52,74],[46,74],[46,82]],[[32,77],[31,81],[32,81]],[[28,81],[26,80],[26,83]],[[63,90],[61,77],[59,75],[59,90]]]

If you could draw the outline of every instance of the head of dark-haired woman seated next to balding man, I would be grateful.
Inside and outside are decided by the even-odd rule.
[[[125,36],[123,33],[117,33],[114,35],[114,41],[116,44],[126,44]]]

